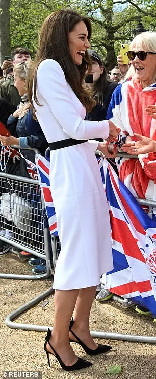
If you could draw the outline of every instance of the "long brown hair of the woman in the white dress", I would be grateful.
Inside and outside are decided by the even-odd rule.
[[[92,32],[91,22],[89,18],[81,16],[75,10],[60,9],[51,13],[44,20],[39,35],[37,54],[28,78],[28,95],[32,105],[32,97],[36,104],[41,105],[36,95],[36,76],[38,66],[44,59],[54,59],[60,64],[67,82],[88,112],[95,105],[96,102],[92,99],[92,94],[83,86],[86,70],[90,69],[91,65],[90,57],[86,51],[82,64],[79,66],[74,64],[69,50],[69,33],[80,21],[84,21],[88,30],[88,40],[90,40]],[[32,89],[33,83],[34,89]]]

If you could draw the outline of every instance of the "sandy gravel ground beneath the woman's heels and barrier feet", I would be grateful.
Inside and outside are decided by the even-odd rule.
[[[31,267],[12,253],[0,257],[1,273],[32,274]],[[26,331],[8,328],[5,318],[23,304],[29,302],[50,288],[51,279],[13,280],[0,279],[1,303],[1,374],[3,371],[42,371],[43,378],[81,378],[81,379],[137,379],[156,378],[156,347],[117,340],[96,340],[110,344],[112,350],[95,357],[87,356],[84,350],[74,344],[74,351],[81,358],[88,359],[93,366],[81,371],[65,372],[51,356],[51,368],[48,367],[43,351],[44,332]],[[48,304],[45,305],[45,300]],[[54,295],[42,300],[36,306],[15,319],[14,322],[37,325],[53,325]],[[134,309],[124,310],[119,303],[108,301],[93,302],[90,329],[106,332],[120,332],[135,335],[155,336],[156,324],[153,319],[139,316]],[[108,368],[120,365],[122,372],[116,375],[106,374]]]

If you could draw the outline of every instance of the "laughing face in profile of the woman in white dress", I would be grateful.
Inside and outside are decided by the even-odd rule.
[[[88,30],[84,21],[80,21],[69,33],[68,44],[70,54],[75,64],[80,65],[82,63],[83,54],[86,49],[90,48],[88,42]]]

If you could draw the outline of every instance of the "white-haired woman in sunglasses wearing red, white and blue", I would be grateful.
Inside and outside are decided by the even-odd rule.
[[[156,161],[152,153],[146,159],[139,154],[134,143],[137,141],[134,133],[156,140],[155,120],[145,110],[149,104],[156,103],[156,33],[137,35],[130,49],[127,55],[133,66],[133,78],[116,88],[107,117],[122,130],[124,144],[121,150],[125,150],[125,144],[133,141],[131,152],[135,155],[138,153],[139,159],[120,159],[120,179],[135,197],[155,200]],[[150,160],[154,161],[154,171]]]

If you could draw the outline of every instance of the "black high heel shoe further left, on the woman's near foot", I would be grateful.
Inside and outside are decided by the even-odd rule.
[[[61,367],[63,368],[63,370],[65,371],[74,371],[74,370],[81,370],[82,368],[86,368],[86,367],[90,367],[92,366],[92,363],[91,362],[88,362],[88,361],[85,361],[84,359],[82,358],[79,358],[78,357],[78,360],[76,363],[74,363],[72,366],[66,366],[63,362],[62,362],[62,359],[60,358],[60,356],[57,354],[56,350],[54,349],[53,346],[51,346],[50,342],[49,342],[49,338],[51,336],[51,330],[48,328],[48,332],[47,332],[47,335],[45,337],[45,342],[44,342],[44,350],[46,352],[46,355],[47,355],[47,359],[48,359],[48,364],[49,364],[49,367],[50,367],[50,358],[49,358],[49,354],[52,354],[54,355],[53,353],[51,353],[50,351],[47,350],[46,348],[46,344],[48,342],[48,344],[50,345],[51,349],[53,349],[54,353],[55,353],[55,358],[59,361]]]

